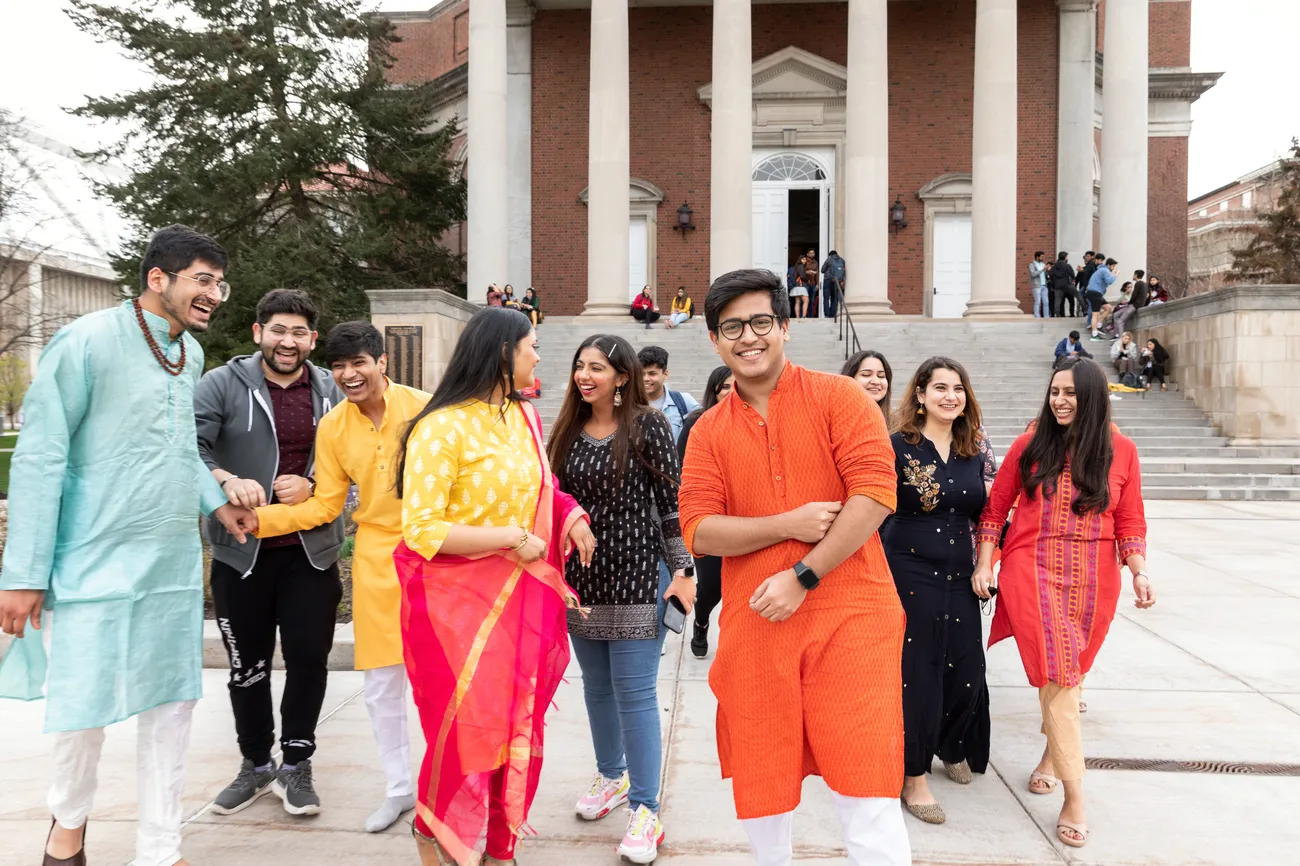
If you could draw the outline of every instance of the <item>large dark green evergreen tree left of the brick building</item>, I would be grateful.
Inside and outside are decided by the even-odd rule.
[[[208,365],[252,350],[257,299],[307,290],[321,330],[364,317],[367,289],[452,287],[439,244],[464,220],[454,124],[430,130],[428,86],[394,86],[393,25],[358,0],[72,0],[69,16],[143,62],[153,83],[75,109],[120,121],[105,185],[134,225],[114,265],[136,286],[150,235],[173,222],[230,254],[230,300],[202,338]]]

